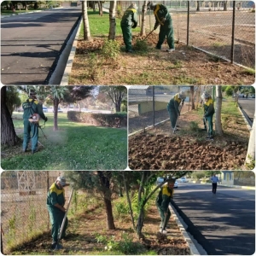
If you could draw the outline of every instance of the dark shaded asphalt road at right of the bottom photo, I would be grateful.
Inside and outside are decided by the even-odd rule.
[[[255,251],[255,191],[179,183],[173,205],[210,255],[251,255]]]

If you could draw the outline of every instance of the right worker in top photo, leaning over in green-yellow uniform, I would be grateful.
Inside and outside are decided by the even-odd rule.
[[[161,49],[162,44],[164,43],[165,39],[167,38],[167,44],[169,45],[169,49],[166,49],[168,52],[172,52],[175,50],[174,46],[174,32],[172,26],[172,17],[169,14],[168,9],[163,4],[156,4],[152,2],[148,2],[147,4],[148,9],[154,11],[155,17],[155,24],[154,30],[160,26],[160,33],[158,43],[156,44],[156,49]]]

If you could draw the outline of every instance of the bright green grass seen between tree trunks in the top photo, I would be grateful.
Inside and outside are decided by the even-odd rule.
[[[89,24],[90,24],[90,35],[92,37],[99,36],[108,36],[109,32],[109,14],[103,12],[103,16],[99,15],[98,12],[94,12],[93,10],[88,10]],[[115,33],[116,35],[122,35],[122,29],[120,26],[120,19],[116,17],[116,27]],[[132,32],[139,32],[140,28],[137,27],[132,29]],[[81,30],[79,33],[79,37],[84,37],[84,26],[82,24]]]

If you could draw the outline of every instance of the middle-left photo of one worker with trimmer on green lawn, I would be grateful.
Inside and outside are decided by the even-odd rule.
[[[3,86],[3,170],[125,170],[125,86]]]

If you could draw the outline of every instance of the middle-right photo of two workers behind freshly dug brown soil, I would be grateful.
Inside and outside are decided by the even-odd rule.
[[[132,85],[131,170],[253,170],[253,86]]]

